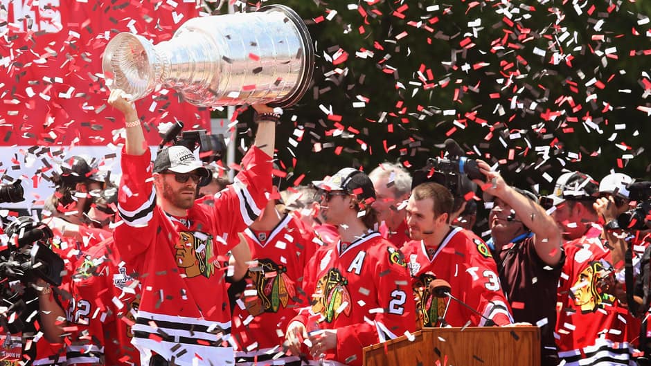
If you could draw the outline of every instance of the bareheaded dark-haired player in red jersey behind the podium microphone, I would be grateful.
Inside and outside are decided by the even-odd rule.
[[[420,327],[510,324],[510,309],[490,250],[473,232],[450,225],[453,205],[452,193],[434,182],[416,186],[407,203],[412,240],[402,253],[411,272],[417,322]],[[430,293],[429,284],[436,279],[449,282],[450,293],[483,317]]]

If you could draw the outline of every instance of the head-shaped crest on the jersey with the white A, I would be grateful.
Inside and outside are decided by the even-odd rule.
[[[316,282],[314,295],[316,303],[312,305],[312,312],[321,313],[326,322],[331,323],[342,313],[350,316],[353,306],[348,280],[336,268],[331,268]]]

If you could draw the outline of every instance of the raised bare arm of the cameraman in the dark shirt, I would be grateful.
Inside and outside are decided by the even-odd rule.
[[[482,190],[499,197],[510,205],[518,219],[535,235],[534,245],[536,254],[550,266],[558,264],[561,258],[562,236],[555,221],[538,203],[526,198],[506,184],[498,172],[490,170],[485,161],[477,161],[479,171],[486,176],[486,181],[476,179]],[[488,182],[488,183],[487,183]]]

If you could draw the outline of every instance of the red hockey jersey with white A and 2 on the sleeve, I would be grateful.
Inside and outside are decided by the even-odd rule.
[[[404,321],[415,316],[404,257],[379,232],[346,248],[341,241],[320,248],[304,276],[303,290],[314,304],[292,321],[305,324],[308,332],[337,329],[337,349],[328,351],[327,360],[362,365],[363,347],[416,328]],[[317,324],[311,324],[313,315],[319,315]]]

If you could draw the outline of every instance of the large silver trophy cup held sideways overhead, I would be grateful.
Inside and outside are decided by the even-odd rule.
[[[137,100],[160,87],[172,88],[199,107],[288,107],[307,91],[313,67],[307,27],[281,5],[190,19],[172,39],[156,45],[119,33],[102,59],[109,89]]]

